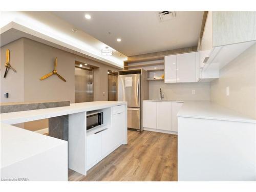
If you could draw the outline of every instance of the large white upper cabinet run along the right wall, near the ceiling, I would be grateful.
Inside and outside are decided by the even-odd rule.
[[[208,11],[199,46],[200,78],[218,78],[220,69],[255,44],[255,29],[256,12]]]

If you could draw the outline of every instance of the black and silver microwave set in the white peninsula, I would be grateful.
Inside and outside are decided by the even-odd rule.
[[[88,112],[86,115],[86,130],[93,129],[96,126],[103,124],[103,112]]]

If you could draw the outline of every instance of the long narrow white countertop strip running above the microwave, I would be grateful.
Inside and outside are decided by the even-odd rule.
[[[57,117],[73,113],[94,111],[111,106],[127,104],[126,101],[94,101],[83,103],[72,103],[70,106],[61,106],[58,108],[48,108],[40,110],[20,111],[0,114],[1,122],[6,124],[16,124],[50,117]]]

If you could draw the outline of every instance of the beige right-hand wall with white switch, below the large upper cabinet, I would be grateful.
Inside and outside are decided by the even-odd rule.
[[[210,83],[210,99],[256,119],[256,45],[220,70],[220,78]]]

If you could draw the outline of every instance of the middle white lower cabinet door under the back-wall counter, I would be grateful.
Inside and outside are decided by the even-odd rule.
[[[157,102],[157,129],[172,131],[171,102]]]

